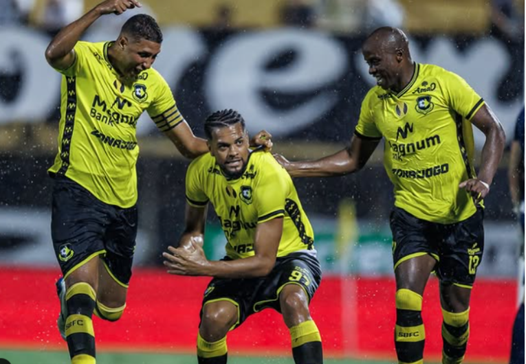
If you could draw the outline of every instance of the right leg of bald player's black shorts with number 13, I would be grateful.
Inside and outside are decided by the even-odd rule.
[[[437,275],[441,284],[471,288],[484,251],[483,210],[470,218],[446,225],[440,244],[440,266]]]

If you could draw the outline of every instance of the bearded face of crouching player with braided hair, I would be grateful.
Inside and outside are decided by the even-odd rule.
[[[208,149],[226,177],[237,179],[243,175],[249,148],[248,134],[241,122],[213,128]]]

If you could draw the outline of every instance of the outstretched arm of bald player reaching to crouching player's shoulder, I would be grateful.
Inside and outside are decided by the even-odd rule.
[[[360,170],[373,154],[380,139],[366,139],[353,135],[351,144],[333,155],[315,161],[291,162],[281,155],[274,155],[291,177],[342,176]]]

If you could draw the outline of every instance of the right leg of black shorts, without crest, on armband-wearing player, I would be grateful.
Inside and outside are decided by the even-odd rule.
[[[135,238],[137,237],[138,211],[113,207],[111,222],[105,232],[106,254],[102,257],[105,270],[101,277],[111,281],[108,286],[127,288],[131,278]]]

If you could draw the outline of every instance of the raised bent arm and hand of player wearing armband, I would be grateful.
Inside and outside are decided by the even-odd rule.
[[[45,59],[56,69],[67,69],[75,60],[73,48],[94,21],[105,14],[122,14],[127,9],[135,8],[135,6],[140,7],[141,5],[136,0],[102,1],[102,3],[99,3],[81,16],[80,19],[66,25],[56,34],[45,50]]]

